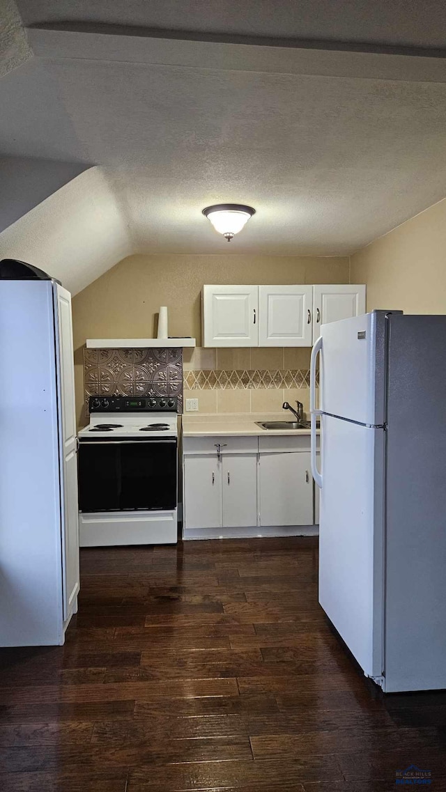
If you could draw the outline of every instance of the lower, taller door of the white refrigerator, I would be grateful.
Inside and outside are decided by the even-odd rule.
[[[383,429],[322,416],[319,602],[367,676],[383,657]]]

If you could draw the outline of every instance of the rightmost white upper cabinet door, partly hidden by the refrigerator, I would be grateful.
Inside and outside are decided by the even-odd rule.
[[[349,319],[365,314],[365,286],[361,284],[328,284],[314,286],[313,343],[320,335],[320,327],[327,322]]]

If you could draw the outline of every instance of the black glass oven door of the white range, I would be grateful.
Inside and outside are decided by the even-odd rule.
[[[81,440],[81,512],[177,508],[177,439]]]

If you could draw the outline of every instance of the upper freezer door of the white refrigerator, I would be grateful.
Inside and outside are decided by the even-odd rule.
[[[384,423],[385,314],[322,325],[320,409],[366,425]]]

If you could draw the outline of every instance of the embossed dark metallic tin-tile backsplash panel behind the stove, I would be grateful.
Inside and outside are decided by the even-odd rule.
[[[85,410],[90,396],[177,396],[183,411],[181,348],[84,348]]]

